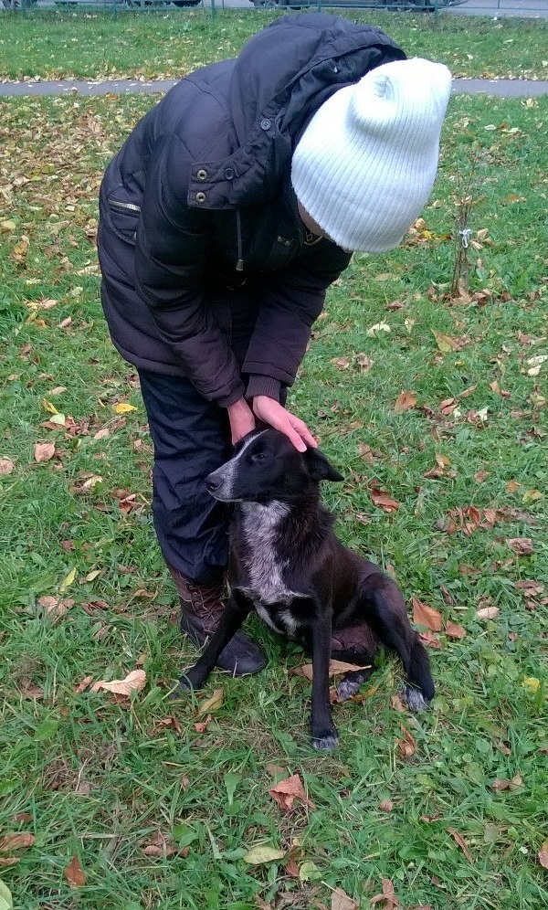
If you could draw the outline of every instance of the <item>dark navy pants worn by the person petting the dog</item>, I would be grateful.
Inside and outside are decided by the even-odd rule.
[[[223,302],[223,331],[240,364],[256,300],[240,291]],[[205,477],[230,458],[227,409],[207,401],[188,379],[138,372],[154,445],[153,517],[163,558],[191,581],[215,584],[228,561],[230,507],[209,495]]]

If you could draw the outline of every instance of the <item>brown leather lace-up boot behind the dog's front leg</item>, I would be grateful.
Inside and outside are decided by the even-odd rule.
[[[216,630],[225,605],[225,579],[216,585],[197,585],[184,577],[174,566],[167,566],[174,579],[181,603],[181,631],[197,645],[204,644]],[[257,673],[267,665],[267,659],[254,641],[237,632],[219,654],[217,667],[232,676]]]

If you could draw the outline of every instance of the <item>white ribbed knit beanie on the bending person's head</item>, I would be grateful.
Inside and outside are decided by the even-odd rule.
[[[297,143],[291,182],[343,249],[397,247],[430,195],[451,74],[420,58],[372,69],[324,101]]]

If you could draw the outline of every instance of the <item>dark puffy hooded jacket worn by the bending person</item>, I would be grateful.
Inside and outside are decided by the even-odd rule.
[[[292,151],[333,91],[402,58],[378,29],[284,16],[142,118],[100,189],[102,302],[130,363],[188,376],[223,406],[291,385],[325,291],[350,260],[303,228]],[[258,307],[241,368],[222,306],[238,288]]]

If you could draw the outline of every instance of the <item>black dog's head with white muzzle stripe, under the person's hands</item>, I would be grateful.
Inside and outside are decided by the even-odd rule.
[[[342,481],[319,449],[299,452],[277,429],[256,429],[238,442],[233,457],[205,478],[224,503],[291,502],[320,481]]]

